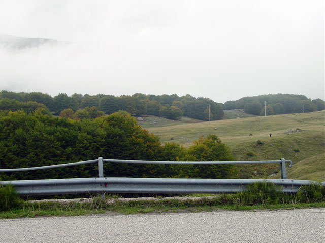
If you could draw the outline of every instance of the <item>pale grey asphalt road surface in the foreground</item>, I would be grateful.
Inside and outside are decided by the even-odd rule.
[[[0,220],[0,242],[325,242],[325,209]]]

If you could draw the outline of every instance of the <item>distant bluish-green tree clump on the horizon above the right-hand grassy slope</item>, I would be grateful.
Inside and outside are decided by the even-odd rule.
[[[223,104],[223,109],[244,109],[249,114],[289,114],[301,113],[305,107],[305,112],[313,112],[325,109],[325,101],[321,99],[308,99],[304,95],[276,94],[259,95],[253,97],[243,97],[239,100],[230,100]]]

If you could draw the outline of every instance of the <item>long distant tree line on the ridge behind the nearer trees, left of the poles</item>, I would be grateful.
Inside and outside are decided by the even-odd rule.
[[[208,120],[208,104],[210,104],[211,120],[222,119],[224,115],[221,104],[207,98],[196,98],[191,95],[179,97],[176,94],[144,95],[136,93],[132,96],[122,95],[116,97],[104,94],[90,96],[88,94],[76,93],[68,96],[67,94],[60,93],[52,98],[40,92],[15,93],[3,90],[0,92],[0,99],[16,100],[22,103],[37,102],[57,114],[67,109],[77,112],[87,107],[95,107],[106,114],[124,110],[132,115],[148,114],[164,116],[169,119],[178,119],[184,115],[200,120]]]

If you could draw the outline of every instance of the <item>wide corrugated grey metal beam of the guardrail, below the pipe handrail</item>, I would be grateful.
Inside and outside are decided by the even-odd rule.
[[[50,180],[2,181],[12,184],[20,195],[108,194],[108,193],[236,193],[256,182],[269,182],[282,187],[282,192],[295,193],[303,185],[317,183],[305,180],[260,179],[171,179],[171,178],[73,178]]]

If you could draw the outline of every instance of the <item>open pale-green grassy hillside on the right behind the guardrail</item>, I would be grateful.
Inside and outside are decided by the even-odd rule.
[[[297,167],[310,164],[317,171],[310,177],[325,181],[325,160],[323,157],[318,157],[325,152],[324,115],[324,111],[318,111],[304,114],[257,116],[210,121],[210,123],[149,128],[148,130],[158,135],[161,142],[172,141],[183,144],[185,147],[192,145],[193,140],[197,140],[199,136],[206,137],[208,134],[216,134],[232,149],[235,160],[285,158],[294,162],[294,166],[288,168],[288,178],[305,178],[310,172],[304,172]],[[288,133],[288,130],[297,128],[302,131]],[[272,133],[272,137],[269,136],[270,133]],[[262,144],[258,144],[257,140],[262,141]],[[318,161],[318,163],[313,163],[313,161]],[[301,163],[298,164],[298,162]],[[294,170],[295,167],[297,171],[295,170],[295,173],[291,174],[290,170]],[[241,178],[265,177],[279,172],[280,169],[276,164],[243,165],[239,168]],[[254,174],[255,171],[257,171],[257,175]],[[309,168],[308,171],[312,170]],[[278,175],[274,176],[274,178],[276,177]]]

